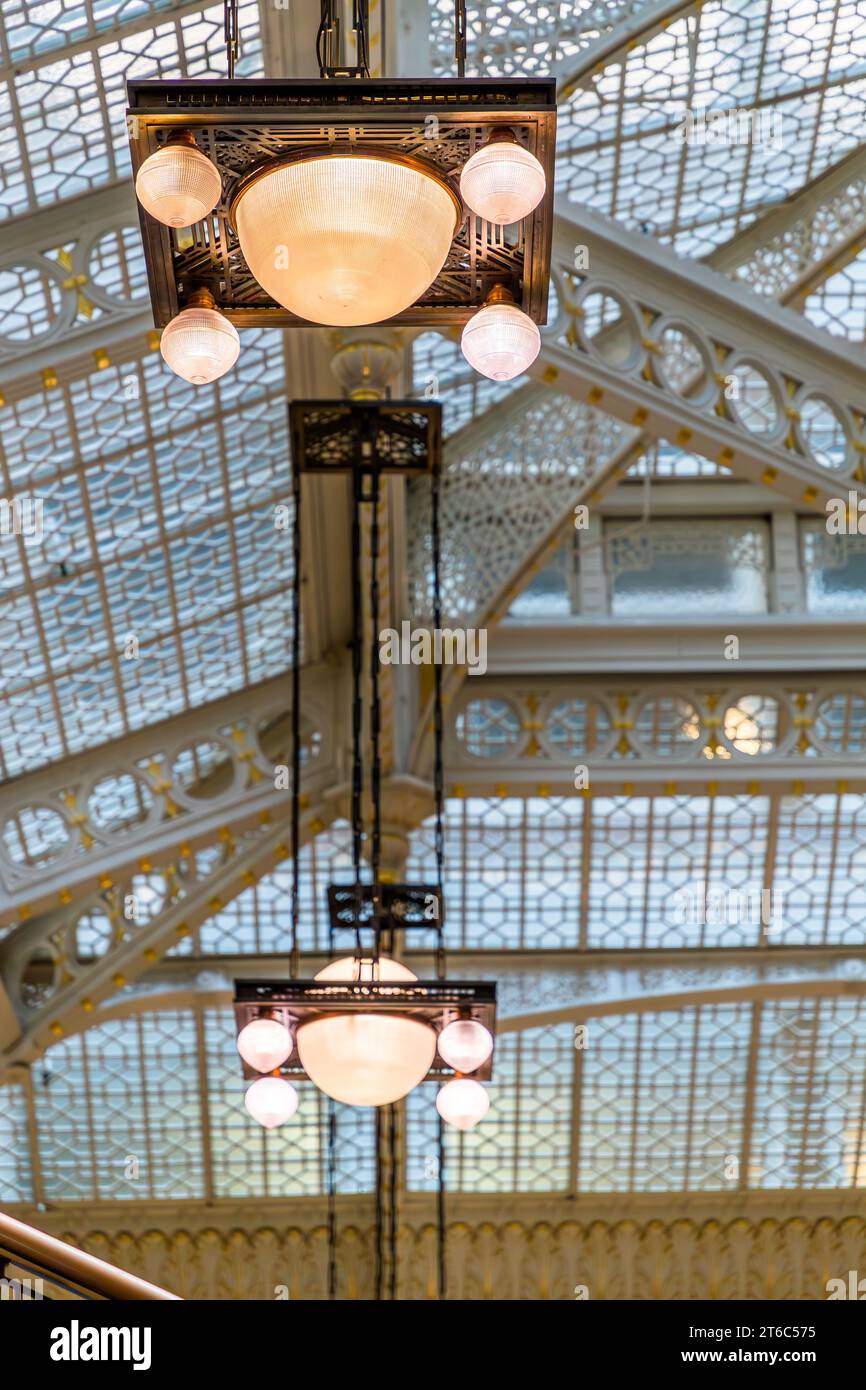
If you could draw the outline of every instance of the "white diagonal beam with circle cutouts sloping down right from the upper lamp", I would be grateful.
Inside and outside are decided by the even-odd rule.
[[[575,247],[587,270],[574,271]],[[542,334],[542,379],[805,506],[859,482],[863,353],[588,210],[557,218],[553,267],[560,311]],[[815,410],[844,435],[824,461]]]

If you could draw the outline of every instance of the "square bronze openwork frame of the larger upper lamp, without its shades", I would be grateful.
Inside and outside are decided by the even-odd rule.
[[[307,324],[261,289],[229,224],[232,190],[259,161],[302,147],[324,153],[363,143],[423,158],[456,182],[495,125],[509,125],[541,161],[548,179],[545,197],[521,224],[507,228],[467,210],[434,284],[388,322],[464,324],[495,284],[507,285],[537,324],[546,322],[556,142],[552,79],[172,79],[131,81],[126,92],[133,175],[178,129],[192,131],[199,149],[222,174],[220,203],[190,228],[164,227],[139,207],[157,328],[164,328],[199,286],[210,289],[236,328]]]

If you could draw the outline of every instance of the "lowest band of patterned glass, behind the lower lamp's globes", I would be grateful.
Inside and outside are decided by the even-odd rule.
[[[446,1131],[445,1184],[475,1193],[847,1188],[866,1177],[866,999],[728,998],[505,1033],[491,1111]],[[752,1059],[756,1059],[752,1065]],[[57,1044],[26,1097],[0,1086],[0,1201],[316,1195],[327,1102],[265,1131],[243,1109],[229,1008],[167,1008]],[[575,1095],[577,1091],[577,1095]],[[578,1098],[580,1097],[580,1098]],[[202,1106],[206,1105],[206,1113]],[[371,1191],[373,1112],[338,1106],[336,1184]],[[575,1126],[574,1116],[578,1116]],[[434,1087],[406,1111],[406,1186],[436,1186]]]

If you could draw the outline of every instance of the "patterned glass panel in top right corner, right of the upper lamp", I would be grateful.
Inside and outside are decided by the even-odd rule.
[[[688,6],[560,106],[557,188],[703,256],[860,140],[858,0]]]

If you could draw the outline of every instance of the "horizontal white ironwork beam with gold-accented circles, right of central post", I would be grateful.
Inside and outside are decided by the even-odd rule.
[[[794,791],[866,787],[863,677],[726,673],[641,680],[480,677],[446,723],[446,766],[467,794],[623,784]],[[578,787],[577,790],[584,790]]]

